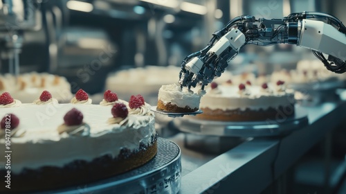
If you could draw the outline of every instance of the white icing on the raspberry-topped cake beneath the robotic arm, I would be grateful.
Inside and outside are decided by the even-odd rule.
[[[271,85],[268,85],[271,87]],[[219,85],[221,94],[207,94],[201,98],[201,109],[268,109],[268,107],[279,107],[294,103],[293,92],[263,92],[262,87],[246,86],[246,95],[239,93],[237,86]]]

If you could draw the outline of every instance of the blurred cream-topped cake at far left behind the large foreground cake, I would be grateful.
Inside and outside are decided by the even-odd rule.
[[[61,103],[72,98],[71,85],[62,76],[49,73],[24,73],[18,78],[10,74],[0,76],[0,94],[10,92],[13,98],[22,103],[32,103],[42,91],[48,90]]]

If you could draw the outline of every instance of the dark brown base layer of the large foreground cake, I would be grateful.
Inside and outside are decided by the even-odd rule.
[[[63,168],[46,166],[37,170],[25,169],[19,175],[11,174],[10,189],[5,187],[6,182],[2,182],[0,193],[53,190],[119,175],[143,166],[154,158],[157,152],[156,141],[157,136],[154,137],[151,145],[140,145],[140,149],[136,152],[122,149],[115,159],[104,155],[90,162],[76,160]],[[6,170],[0,170],[0,173],[6,175]]]

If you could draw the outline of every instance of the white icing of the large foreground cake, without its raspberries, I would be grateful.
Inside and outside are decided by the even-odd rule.
[[[64,123],[64,115],[73,107],[82,112],[83,122],[90,126],[89,135],[57,131]],[[154,116],[129,115],[125,125],[107,123],[112,116],[111,106],[22,104],[11,112],[19,117],[21,129],[26,130],[24,136],[11,138],[12,173],[19,173],[23,168],[62,167],[76,159],[92,161],[107,154],[116,157],[121,148],[138,149],[141,142],[147,145],[156,134]],[[0,109],[0,117],[5,114],[8,111]],[[0,152],[5,151],[5,141],[0,139]],[[5,159],[0,157],[0,163],[6,163]]]

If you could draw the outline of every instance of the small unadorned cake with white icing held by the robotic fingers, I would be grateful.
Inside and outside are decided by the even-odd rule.
[[[196,93],[178,85],[163,85],[158,90],[157,109],[165,112],[195,112],[199,109],[199,102],[204,91]]]

